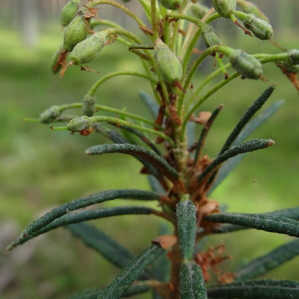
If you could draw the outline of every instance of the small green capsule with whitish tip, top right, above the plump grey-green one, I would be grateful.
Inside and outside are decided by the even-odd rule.
[[[273,37],[273,28],[266,21],[255,17],[252,13],[248,14],[243,20],[244,27],[261,40],[271,39]]]

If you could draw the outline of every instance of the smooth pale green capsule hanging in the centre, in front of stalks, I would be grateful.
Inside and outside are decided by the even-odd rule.
[[[174,84],[182,77],[182,65],[176,55],[170,51],[161,39],[156,39],[154,59],[164,81]]]

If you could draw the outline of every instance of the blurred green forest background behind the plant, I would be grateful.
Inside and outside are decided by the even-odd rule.
[[[142,70],[140,60],[116,42],[105,47],[98,59],[89,64],[100,75],[71,67],[63,78],[53,76],[49,64],[62,41],[58,11],[64,3],[26,0],[0,4],[0,298],[4,299],[62,299],[79,290],[107,284],[119,270],[63,228],[9,253],[5,247],[27,223],[66,201],[106,189],[149,189],[146,177],[139,174],[141,164],[134,158],[84,154],[87,147],[108,142],[101,136],[71,136],[67,131],[52,132],[48,125],[23,122],[23,117],[36,118],[52,105],[80,102],[89,87],[111,71]],[[266,12],[269,10],[275,25],[275,40],[288,49],[299,48],[298,17],[294,17],[299,13],[298,1],[256,3],[266,7]],[[140,13],[136,3],[128,5]],[[135,24],[122,13],[105,9],[99,11],[100,18],[114,16],[112,20],[136,32]],[[243,36],[229,21],[220,20],[216,29],[224,43],[232,47],[250,53],[280,51],[269,42]],[[212,70],[212,65],[209,58],[199,68],[193,80],[195,87]],[[278,99],[286,102],[252,135],[272,138],[275,146],[248,155],[211,194],[221,204],[227,203],[231,212],[266,212],[298,206],[299,96],[274,64],[265,65],[264,70],[271,83],[278,83],[266,106]],[[207,89],[221,79],[217,77]],[[206,153],[213,156],[218,152],[245,109],[269,84],[236,79],[202,106],[202,111],[211,111],[224,104],[208,137]],[[102,85],[97,93],[98,103],[126,107],[149,117],[138,97],[141,89],[150,92],[143,79],[117,77]],[[119,204],[124,202],[113,201],[102,206]],[[121,216],[92,223],[137,254],[157,236],[159,221],[154,216]],[[233,271],[239,263],[290,239],[261,231],[241,231],[211,237],[205,247],[223,242],[234,260],[223,263],[220,269]],[[299,280],[298,267],[299,258],[296,258],[267,277]],[[149,295],[137,298],[147,299]]]

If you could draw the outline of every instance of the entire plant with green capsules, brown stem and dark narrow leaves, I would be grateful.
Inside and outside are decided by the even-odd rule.
[[[213,23],[221,17],[230,18],[246,34],[260,40],[273,37],[273,28],[267,17],[257,5],[247,0],[212,0],[213,7],[194,4],[194,0],[193,4],[182,0],[139,1],[149,21],[147,24],[144,18],[119,1],[90,0],[84,1],[81,7],[79,0],[67,2],[61,12],[63,45],[52,57],[51,69],[54,73],[60,71],[60,76],[63,76],[71,65],[71,72],[76,72],[76,65],[80,65],[82,70],[96,72],[95,76],[100,76],[100,79],[84,90],[81,94],[85,95],[83,101],[54,105],[43,111],[38,119],[25,120],[43,124],[66,123],[57,127],[51,125],[51,129],[68,130],[72,135],[76,132],[82,136],[101,134],[110,143],[88,147],[85,151],[90,156],[88,159],[103,159],[103,155],[112,153],[130,155],[141,163],[140,173],[148,175],[152,191],[115,189],[70,200],[32,221],[7,249],[12,250],[34,237],[64,227],[119,268],[119,273],[105,287],[98,281],[94,288],[78,292],[69,299],[120,299],[135,295],[139,298],[149,291],[152,299],[299,298],[299,282],[258,279],[299,255],[299,207],[267,213],[226,213],[214,196],[209,198],[245,155],[275,144],[267,137],[251,139],[251,135],[284,103],[283,100],[275,101],[254,117],[267,105],[276,84],[265,87],[244,114],[240,114],[239,121],[232,126],[233,130],[214,158],[207,155],[205,143],[212,125],[217,123],[217,116],[225,108],[222,101],[225,104],[231,100],[234,90],[227,90],[221,103],[207,106],[212,112],[200,110],[201,104],[232,81],[240,80],[239,84],[241,78],[267,81],[262,77],[262,65],[266,63],[277,64],[299,90],[299,50],[249,54],[222,44]],[[103,18],[100,13],[102,4],[126,13],[141,29],[140,34]],[[237,4],[243,11],[237,10]],[[188,15],[188,11],[193,16]],[[221,24],[217,23],[217,30]],[[203,50],[199,43],[201,37],[205,46]],[[116,47],[118,43],[122,43],[123,51],[128,50],[132,59],[142,62],[144,73],[135,71],[135,64],[129,65],[128,70],[105,75],[84,65],[98,57],[107,60],[105,50],[108,46],[104,51],[102,49],[108,44]],[[218,64],[219,68],[205,75],[210,69],[208,64]],[[65,74],[68,75],[69,71]],[[212,80],[217,81],[221,74],[224,79],[222,77],[212,86]],[[152,95],[140,91],[140,101],[136,104],[143,110],[148,109],[148,114],[139,115],[122,107],[105,106],[101,103],[102,96],[96,100],[96,92],[100,91],[102,84],[115,80],[113,84],[118,90],[117,78],[123,75],[148,81]],[[128,82],[134,91],[137,84],[131,79]],[[117,103],[122,103],[124,97],[121,90],[120,95]],[[189,99],[186,99],[187,95]],[[242,95],[238,96],[242,101]],[[79,109],[81,113],[66,113],[70,109]],[[227,122],[230,122],[229,117]],[[106,171],[115,172],[115,169]],[[134,170],[127,171],[131,175]],[[124,205],[90,208],[115,199],[123,199]],[[151,205],[128,205],[128,200],[132,199],[140,203],[151,201]],[[136,256],[100,230],[98,225],[86,223],[104,218],[106,222],[114,221],[116,216],[123,215],[155,216],[163,221],[162,229],[152,240],[147,240],[146,248]],[[138,223],[142,221],[140,218]],[[138,231],[141,226],[134,229]],[[246,233],[248,229],[285,234],[296,239],[264,253],[234,272],[225,271],[223,265],[218,268],[218,264],[230,256],[224,255],[224,244],[205,249],[203,242],[206,238],[234,231]],[[127,237],[134,236],[128,234]],[[212,239],[211,243],[214,242]],[[218,269],[223,269],[223,273]],[[209,281],[215,276],[221,283],[211,286]]]

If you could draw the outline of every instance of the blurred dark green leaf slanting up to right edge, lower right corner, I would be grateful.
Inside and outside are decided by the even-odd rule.
[[[259,277],[298,255],[299,240],[289,242],[239,268],[235,273],[235,280],[240,281]]]

